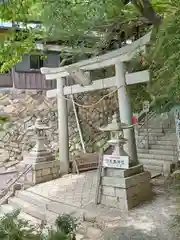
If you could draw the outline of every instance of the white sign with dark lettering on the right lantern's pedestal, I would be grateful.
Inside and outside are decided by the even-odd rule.
[[[129,157],[128,156],[117,156],[117,155],[104,155],[103,156],[103,167],[107,168],[129,168]]]

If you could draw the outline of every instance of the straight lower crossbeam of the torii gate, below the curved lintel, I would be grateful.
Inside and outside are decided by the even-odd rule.
[[[126,74],[127,85],[148,82],[149,80],[150,80],[150,76],[149,76],[149,71],[147,70]],[[115,87],[115,86],[117,86],[116,77],[104,78],[104,79],[93,81],[92,84],[88,86],[81,86],[79,84],[72,85],[72,86],[65,86],[64,95],[82,93],[82,92],[91,92],[91,91],[101,90],[101,89]],[[56,89],[47,91],[48,98],[53,98],[56,96],[57,96]]]

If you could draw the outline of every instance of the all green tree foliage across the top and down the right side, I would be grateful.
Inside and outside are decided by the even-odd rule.
[[[119,48],[124,40],[134,40],[152,29],[150,54],[146,56],[145,65],[150,67],[153,81],[147,89],[141,86],[142,99],[147,93],[147,98],[163,95],[164,101],[167,96],[178,101],[179,13],[178,0],[4,1],[0,5],[1,21],[10,21],[14,25],[21,21],[24,29],[17,31],[14,27],[6,34],[0,34],[1,70],[8,70],[24,53],[32,51],[37,39],[57,40],[60,44],[80,47],[82,56],[71,57],[69,64],[89,57],[83,52],[84,46],[92,48],[98,55],[111,50],[112,39]],[[28,27],[27,23],[32,19],[42,21],[44,28]],[[130,89],[134,95],[135,89]],[[140,101],[139,96],[137,101]]]

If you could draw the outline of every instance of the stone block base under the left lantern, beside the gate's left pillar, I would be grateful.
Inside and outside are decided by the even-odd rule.
[[[60,161],[33,163],[33,184],[39,184],[58,178],[60,175]]]

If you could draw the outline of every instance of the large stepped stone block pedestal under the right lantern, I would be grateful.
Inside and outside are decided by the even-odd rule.
[[[143,165],[129,169],[104,170],[100,203],[109,207],[129,210],[152,198],[151,176]]]

